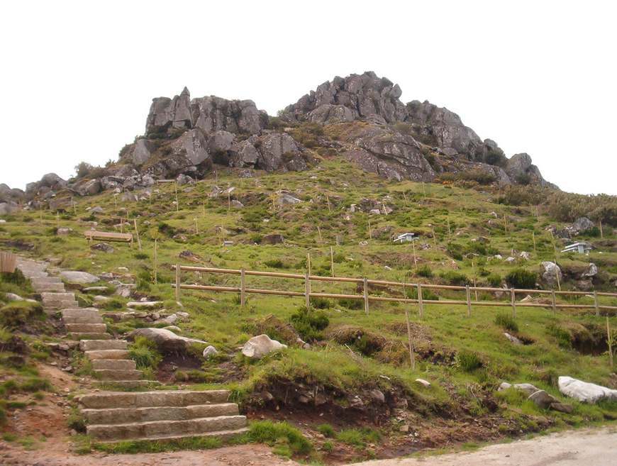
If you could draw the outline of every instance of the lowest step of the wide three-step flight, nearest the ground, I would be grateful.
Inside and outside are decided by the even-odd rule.
[[[246,427],[245,416],[217,416],[186,421],[151,421],[126,424],[95,424],[87,433],[96,440],[133,440],[154,436],[201,435],[217,431],[237,431]]]

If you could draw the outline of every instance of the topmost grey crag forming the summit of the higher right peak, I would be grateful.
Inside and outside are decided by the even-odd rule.
[[[399,84],[377,77],[372,71],[335,77],[301,97],[284,110],[284,116],[294,121],[338,123],[357,118],[374,118],[384,123],[402,121],[405,106],[399,101]]]

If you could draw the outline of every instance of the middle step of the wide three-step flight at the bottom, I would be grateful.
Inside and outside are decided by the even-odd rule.
[[[89,424],[126,424],[152,421],[186,421],[194,418],[238,416],[235,403],[194,406],[150,406],[146,408],[82,409]]]

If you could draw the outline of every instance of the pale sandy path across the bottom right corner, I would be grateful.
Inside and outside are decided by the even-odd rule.
[[[473,453],[423,459],[377,460],[364,466],[614,466],[617,428],[555,433],[532,440],[490,445]]]

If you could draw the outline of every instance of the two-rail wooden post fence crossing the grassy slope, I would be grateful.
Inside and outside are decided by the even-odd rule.
[[[187,265],[176,265],[176,282],[172,286],[176,291],[176,300],[180,301],[180,291],[182,289],[194,289],[201,291],[212,292],[231,292],[240,294],[240,305],[245,306],[247,294],[274,294],[277,296],[298,296],[304,297],[306,306],[309,306],[311,298],[332,298],[332,299],[360,299],[364,301],[365,312],[369,312],[370,301],[386,301],[397,303],[418,304],[418,311],[420,317],[423,316],[424,306],[426,304],[438,304],[449,306],[460,305],[467,306],[467,315],[471,315],[472,306],[506,306],[511,307],[513,316],[516,317],[516,308],[518,307],[542,307],[549,308],[555,312],[557,309],[594,309],[596,316],[600,315],[601,310],[617,310],[617,306],[604,306],[599,304],[599,296],[611,296],[617,298],[617,293],[605,293],[605,292],[593,292],[592,297],[594,304],[562,304],[557,303],[557,296],[586,296],[589,292],[561,292],[545,289],[515,289],[515,288],[491,288],[491,287],[470,287],[470,286],[455,286],[455,285],[440,285],[440,284],[421,284],[421,283],[405,283],[405,282],[389,282],[386,280],[372,280],[367,278],[352,278],[352,277],[322,277],[321,275],[310,275],[309,272],[305,274],[291,274],[282,272],[263,272],[257,270],[244,270],[244,269],[221,269],[213,267],[193,267]],[[209,274],[232,274],[240,276],[240,286],[238,287],[221,287],[218,285],[201,285],[201,284],[183,284],[182,283],[182,271],[185,272],[201,272]],[[303,280],[304,292],[294,292],[281,289],[262,289],[262,288],[248,288],[246,287],[246,277],[274,277],[291,280]],[[311,291],[311,282],[344,282],[354,283],[362,285],[362,294],[338,294],[338,293],[316,293]],[[394,296],[372,296],[369,294],[370,285],[377,285],[381,287],[399,287],[402,290],[403,297]],[[406,295],[406,289],[416,289],[417,298],[408,298]],[[465,300],[456,299],[423,299],[422,292],[425,289],[443,289],[443,290],[455,290],[464,291]],[[475,300],[472,301],[472,292],[475,295]],[[498,301],[496,299],[479,301],[477,298],[477,292],[498,292],[501,294],[509,295],[508,302]],[[534,303],[534,302],[522,302],[516,300],[516,294],[540,294],[550,296],[549,303]],[[494,298],[494,296],[491,296]]]

